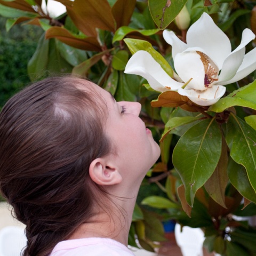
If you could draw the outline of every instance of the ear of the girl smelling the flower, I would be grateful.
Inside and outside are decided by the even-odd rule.
[[[105,158],[96,158],[92,161],[89,175],[98,185],[115,185],[122,181],[119,171],[114,165],[107,163]]]

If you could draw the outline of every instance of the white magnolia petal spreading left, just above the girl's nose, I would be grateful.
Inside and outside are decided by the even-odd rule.
[[[159,92],[175,91],[183,85],[167,75],[159,63],[146,51],[135,52],[127,62],[124,73],[144,77],[149,85]]]

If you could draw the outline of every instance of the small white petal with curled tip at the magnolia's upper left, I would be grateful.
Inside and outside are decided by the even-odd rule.
[[[163,37],[165,41],[172,46],[172,58],[175,59],[177,53],[183,52],[187,49],[187,44],[182,42],[173,31],[164,30]]]

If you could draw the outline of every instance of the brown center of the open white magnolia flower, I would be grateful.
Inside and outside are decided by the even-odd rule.
[[[204,65],[204,86],[207,88],[212,87],[214,81],[218,81],[218,71],[214,68],[211,59],[203,52],[196,51]]]

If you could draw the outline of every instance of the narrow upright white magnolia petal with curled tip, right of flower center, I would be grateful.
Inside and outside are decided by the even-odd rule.
[[[241,44],[229,54],[229,56],[223,63],[218,84],[228,81],[235,76],[238,68],[243,62],[245,46],[250,43],[254,38],[255,35],[252,33],[252,30],[248,28],[244,29]]]

